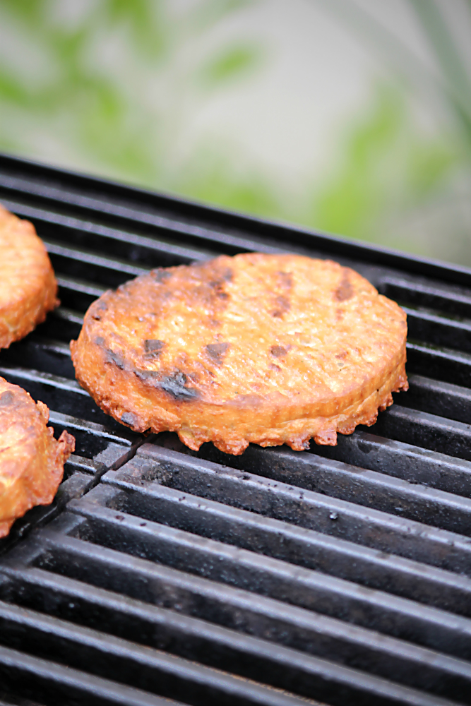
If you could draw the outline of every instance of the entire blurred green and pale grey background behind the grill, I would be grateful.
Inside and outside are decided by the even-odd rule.
[[[471,265],[471,0],[0,0],[0,150]]]

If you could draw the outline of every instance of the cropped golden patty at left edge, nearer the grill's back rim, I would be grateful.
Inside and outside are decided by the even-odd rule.
[[[23,338],[59,304],[49,256],[34,226],[0,205],[0,348]]]

